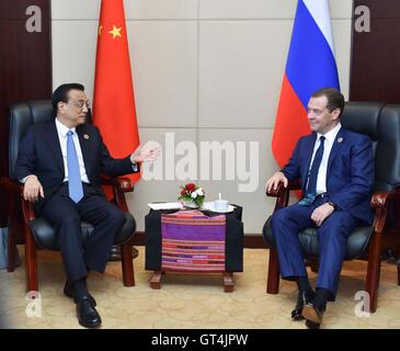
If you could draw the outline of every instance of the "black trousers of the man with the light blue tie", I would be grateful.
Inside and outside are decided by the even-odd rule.
[[[41,210],[56,230],[70,282],[87,276],[88,270],[104,272],[114,237],[125,224],[124,213],[91,185],[84,184],[83,193],[83,199],[76,204],[68,195],[66,183]],[[93,226],[85,242],[82,240],[81,220]]]

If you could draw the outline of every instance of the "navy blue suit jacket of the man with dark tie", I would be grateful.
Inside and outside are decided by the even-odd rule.
[[[301,137],[283,172],[289,180],[300,179],[306,192],[307,174],[311,162],[317,133]],[[339,131],[327,169],[327,192],[330,201],[354,217],[373,223],[369,202],[374,185],[374,152],[368,136]]]

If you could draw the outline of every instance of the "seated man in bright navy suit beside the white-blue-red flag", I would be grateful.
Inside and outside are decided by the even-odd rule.
[[[292,317],[306,318],[319,328],[327,302],[334,301],[347,237],[359,225],[372,224],[369,201],[374,184],[373,145],[368,136],[343,128],[340,117],[344,98],[335,89],[316,91],[308,103],[312,134],[301,137],[289,162],[266,182],[266,190],[279,182],[300,179],[305,197],[278,210],[272,217],[279,271],[296,281],[298,299]],[[316,292],[307,278],[298,233],[317,227],[319,274]]]

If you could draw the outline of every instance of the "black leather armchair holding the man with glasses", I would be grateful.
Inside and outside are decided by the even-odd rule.
[[[55,231],[43,217],[36,217],[31,203],[23,200],[21,185],[12,178],[16,162],[20,141],[30,125],[37,122],[50,121],[54,118],[52,102],[38,100],[15,103],[10,106],[10,139],[9,139],[9,173],[11,177],[1,178],[1,186],[10,194],[9,213],[9,258],[8,271],[15,268],[15,249],[18,242],[25,244],[25,269],[27,291],[38,290],[36,249],[58,250]],[[89,117],[90,121],[90,117]],[[90,123],[90,122],[89,122]],[[133,264],[133,238],[136,230],[136,222],[125,201],[124,193],[134,191],[128,178],[103,178],[103,183],[113,189],[113,202],[125,213],[126,222],[121,233],[115,237],[114,244],[121,245],[122,269],[124,285],[135,285]],[[82,222],[82,236],[85,240],[92,233],[93,227]]]

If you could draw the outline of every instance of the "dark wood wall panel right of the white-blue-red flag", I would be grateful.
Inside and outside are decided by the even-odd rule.
[[[370,32],[354,29],[354,14],[350,100],[400,103],[400,1],[354,0],[358,5],[370,11]]]

